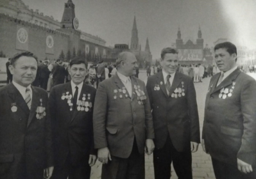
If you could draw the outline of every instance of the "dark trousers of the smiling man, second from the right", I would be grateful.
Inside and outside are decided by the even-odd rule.
[[[192,178],[192,155],[190,145],[183,152],[178,152],[168,135],[163,148],[155,148],[153,164],[155,179],[171,178],[171,162],[179,179]]]

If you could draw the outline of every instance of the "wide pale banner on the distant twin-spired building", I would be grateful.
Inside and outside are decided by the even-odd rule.
[[[178,49],[180,61],[201,61],[203,60],[203,49]]]

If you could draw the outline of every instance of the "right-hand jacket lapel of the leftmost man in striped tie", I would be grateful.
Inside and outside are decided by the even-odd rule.
[[[37,110],[37,107],[40,105],[40,93],[37,91],[37,89],[32,88],[32,102],[31,102],[31,108],[30,108],[30,116],[28,117],[28,124],[27,127],[30,125],[33,117],[35,116],[35,112]]]

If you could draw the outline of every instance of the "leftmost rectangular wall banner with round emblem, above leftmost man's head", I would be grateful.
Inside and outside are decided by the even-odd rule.
[[[16,49],[28,51],[28,28],[17,25]]]

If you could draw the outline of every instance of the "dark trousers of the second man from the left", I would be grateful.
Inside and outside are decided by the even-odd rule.
[[[71,155],[69,153],[65,164],[61,168],[53,170],[51,179],[90,179],[90,166],[88,160],[78,166],[73,166],[71,162]]]

